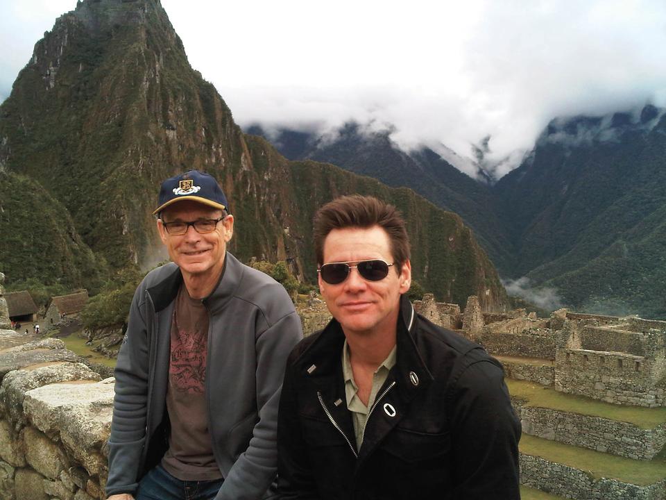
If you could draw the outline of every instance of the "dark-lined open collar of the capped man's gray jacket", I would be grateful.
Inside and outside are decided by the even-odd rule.
[[[173,265],[173,264],[171,264]],[[180,267],[173,265],[173,272],[169,274],[162,281],[148,288],[148,293],[153,299],[155,305],[155,312],[159,313],[164,308],[167,308],[178,295],[180,285],[182,285],[182,273]],[[243,277],[244,266],[235,258],[229,251],[225,252],[224,267],[222,274],[216,287],[211,294],[203,299],[203,303],[214,313],[219,308],[234,296],[238,285]]]

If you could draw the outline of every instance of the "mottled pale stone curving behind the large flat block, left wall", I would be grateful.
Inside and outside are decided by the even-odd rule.
[[[3,378],[0,404],[8,409],[11,422],[25,424],[23,400],[26,392],[52,383],[76,380],[99,381],[100,376],[83,363],[56,363],[33,369],[17,369]]]

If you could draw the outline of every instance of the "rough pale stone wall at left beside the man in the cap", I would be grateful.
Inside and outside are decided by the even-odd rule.
[[[0,331],[0,499],[103,499],[113,379],[57,339]]]

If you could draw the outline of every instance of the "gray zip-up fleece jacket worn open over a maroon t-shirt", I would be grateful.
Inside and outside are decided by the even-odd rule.
[[[173,263],[148,273],[135,293],[115,370],[108,495],[134,493],[166,451],[165,401],[173,303],[182,283]],[[216,500],[275,494],[275,431],[282,376],[302,338],[289,294],[229,252],[210,313],[206,367],[209,430],[224,483]]]

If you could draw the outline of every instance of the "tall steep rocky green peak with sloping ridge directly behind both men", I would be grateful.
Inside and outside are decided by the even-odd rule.
[[[230,249],[243,260],[287,260],[314,281],[314,210],[337,194],[373,193],[404,211],[415,278],[425,288],[447,301],[479,294],[487,308],[506,304],[490,260],[456,215],[332,165],[289,162],[246,137],[189,66],[159,0],[79,1],[37,42],[0,106],[0,171],[29,179],[42,199],[62,207],[68,238],[108,276],[106,269],[145,269],[165,258],[151,211],[160,181],[187,168],[221,181],[237,219]],[[22,201],[3,203],[12,231]],[[0,268],[19,260],[40,269],[25,251],[0,257]],[[50,272],[33,274],[56,279]],[[92,275],[71,280],[87,285]]]

